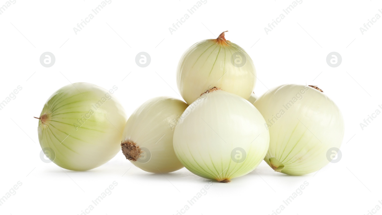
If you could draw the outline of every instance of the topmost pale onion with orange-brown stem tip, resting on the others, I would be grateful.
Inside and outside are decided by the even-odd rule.
[[[197,42],[186,50],[176,79],[187,104],[212,86],[248,99],[256,83],[256,70],[247,52],[226,40],[223,32],[217,39]]]

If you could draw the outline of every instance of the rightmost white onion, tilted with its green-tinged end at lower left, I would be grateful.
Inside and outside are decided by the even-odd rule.
[[[329,163],[327,151],[340,148],[345,123],[340,109],[311,86],[286,84],[264,93],[254,103],[269,127],[264,160],[275,171],[304,175]]]

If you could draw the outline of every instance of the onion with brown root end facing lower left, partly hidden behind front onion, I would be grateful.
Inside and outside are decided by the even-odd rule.
[[[176,122],[187,106],[179,99],[162,96],[136,109],[123,132],[121,147],[126,159],[150,173],[170,173],[183,168],[172,140]]]

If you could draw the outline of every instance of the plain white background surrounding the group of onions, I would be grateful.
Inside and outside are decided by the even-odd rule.
[[[342,158],[305,176],[276,173],[263,161],[229,184],[214,182],[185,214],[272,214],[304,181],[309,185],[281,214],[364,215],[376,205],[382,207],[382,115],[363,129],[359,125],[382,105],[382,18],[364,34],[359,29],[377,13],[382,16],[382,3],[304,0],[266,34],[264,28],[292,1],[207,0],[171,34],[168,28],[196,0],[112,0],[75,34],[73,28],[100,2],[16,0],[0,15],[0,100],[22,87],[0,111],[0,197],[22,182],[0,206],[0,214],[81,214],[113,181],[118,185],[112,194],[90,214],[180,211],[209,180],[185,168],[165,175],[146,173],[122,153],[86,172],[44,163],[33,116],[39,116],[54,91],[70,82],[118,86],[114,95],[128,115],[152,97],[181,98],[175,79],[181,55],[195,42],[226,30],[226,38],[254,61],[256,94],[284,83],[309,84],[318,85],[337,103],[346,124]],[[40,64],[43,52],[55,55],[52,67]],[[149,66],[138,67],[139,52],[151,55]],[[329,67],[330,52],[340,53],[340,66]],[[373,212],[382,214],[382,209]]]

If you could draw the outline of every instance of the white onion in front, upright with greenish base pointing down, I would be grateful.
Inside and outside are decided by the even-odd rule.
[[[212,88],[183,112],[174,150],[192,173],[219,182],[253,171],[264,159],[269,132],[260,112],[233,93]]]

